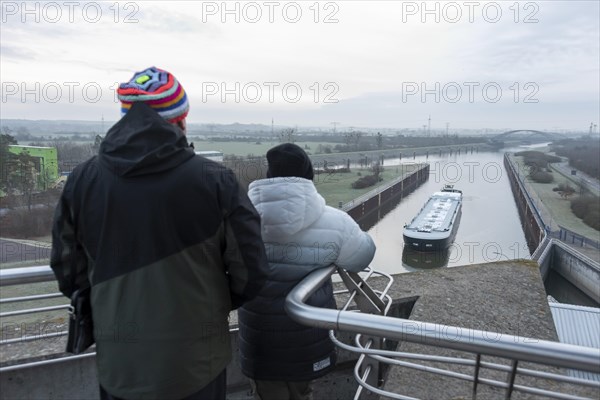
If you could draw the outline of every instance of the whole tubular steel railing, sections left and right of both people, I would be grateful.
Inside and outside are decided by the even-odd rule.
[[[344,282],[346,289],[336,291],[336,296],[343,301],[339,310],[321,309],[305,304],[306,299],[331,275],[337,271],[336,267],[317,270],[307,276],[288,295],[286,300],[287,312],[299,323],[330,329],[330,336],[334,343],[341,349],[357,353],[358,362],[354,368],[354,377],[358,383],[355,399],[361,398],[364,389],[370,392],[394,399],[409,399],[401,393],[391,391],[389,387],[382,386],[380,372],[382,366],[402,366],[419,371],[426,371],[438,376],[471,382],[473,398],[477,397],[478,388],[482,385],[503,389],[506,398],[511,398],[513,393],[521,392],[544,396],[547,398],[576,399],[581,398],[569,393],[553,389],[552,383],[565,383],[581,387],[592,388],[600,391],[598,381],[587,380],[569,376],[568,373],[547,372],[531,368],[524,368],[523,362],[536,363],[542,366],[554,366],[581,371],[600,373],[600,350],[580,346],[567,345],[557,342],[541,341],[532,338],[502,335],[498,338],[496,332],[465,330],[452,327],[425,323],[388,316],[392,307],[392,298],[388,291],[393,279],[390,275],[375,270],[367,270],[364,274],[337,271]],[[384,289],[372,289],[368,281],[379,276],[384,280]],[[29,282],[40,282],[54,279],[49,267],[17,268],[0,270],[0,286],[18,285]],[[3,299],[3,303],[39,300],[50,297],[62,296],[60,293],[26,296],[22,298]],[[357,308],[353,309],[352,306]],[[66,308],[56,306],[57,309]],[[39,312],[43,308],[22,310],[22,313]],[[10,315],[15,315],[10,314]],[[6,314],[0,315],[6,316]],[[336,332],[356,333],[352,343],[344,343],[338,338]],[[54,335],[65,335],[66,332],[57,332]],[[489,338],[496,338],[490,341]],[[39,338],[39,337],[35,337]],[[27,341],[35,338],[19,338],[2,341],[0,344]],[[408,353],[389,349],[384,343],[389,341],[411,342],[433,347],[434,349],[451,349],[468,352],[472,358],[447,357],[435,354]],[[92,357],[95,353],[81,356],[62,357],[51,360],[37,361],[28,364],[17,364],[0,368],[0,372],[14,369],[41,366],[48,363],[65,362],[77,357]],[[509,364],[499,362],[486,362],[482,356],[495,356],[508,359]],[[430,363],[442,363],[447,368],[432,366]],[[468,367],[471,373],[465,373]],[[507,380],[498,380],[482,377],[482,370],[493,370],[506,373]],[[520,385],[515,383],[516,376],[540,378],[543,382],[550,382],[552,389],[544,386]]]

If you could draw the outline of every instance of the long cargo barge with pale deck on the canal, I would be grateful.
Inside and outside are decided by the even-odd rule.
[[[445,185],[404,225],[404,244],[417,251],[447,249],[454,242],[462,212],[462,191]]]

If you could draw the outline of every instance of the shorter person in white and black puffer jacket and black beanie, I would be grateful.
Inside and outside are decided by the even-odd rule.
[[[272,268],[259,295],[238,310],[241,366],[261,400],[310,399],[310,381],[335,366],[335,348],[327,330],[287,316],[285,297],[315,269],[365,269],[375,244],[347,213],[325,204],[302,148],[281,144],[267,152],[267,161],[267,179],[252,182],[248,197],[261,216]],[[307,303],[335,308],[331,280]]]

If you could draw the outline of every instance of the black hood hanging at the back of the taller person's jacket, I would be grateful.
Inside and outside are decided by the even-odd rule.
[[[181,129],[144,103],[131,109],[106,134],[100,162],[120,176],[154,174],[194,156]]]

